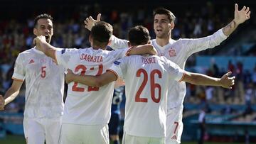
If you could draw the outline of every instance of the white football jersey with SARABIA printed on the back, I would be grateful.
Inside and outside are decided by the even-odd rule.
[[[114,51],[85,49],[63,49],[55,52],[58,65],[75,74],[99,75],[104,73],[115,60],[124,57],[129,49]],[[88,87],[78,82],[68,84],[63,123],[82,125],[105,124],[110,121],[110,108],[114,82],[103,87]]]

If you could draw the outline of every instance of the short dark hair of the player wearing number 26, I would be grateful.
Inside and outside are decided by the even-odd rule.
[[[129,30],[128,39],[131,45],[144,45],[149,43],[149,30],[144,26],[134,26]]]

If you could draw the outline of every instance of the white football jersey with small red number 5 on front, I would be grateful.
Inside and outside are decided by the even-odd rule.
[[[31,48],[21,52],[12,79],[26,79],[24,116],[54,118],[63,115],[64,67],[43,52]]]

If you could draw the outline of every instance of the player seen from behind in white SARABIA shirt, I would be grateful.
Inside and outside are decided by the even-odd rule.
[[[100,21],[95,23],[90,33],[92,48],[60,49],[46,43],[45,37],[34,39],[49,57],[58,65],[73,70],[80,75],[99,75],[105,72],[115,60],[133,54],[156,54],[152,45],[105,50],[110,43],[112,26]],[[39,46],[38,46],[39,47]],[[107,123],[110,121],[110,106],[114,92],[114,82],[105,87],[88,87],[78,82],[68,84],[65,100],[60,143],[110,143]]]

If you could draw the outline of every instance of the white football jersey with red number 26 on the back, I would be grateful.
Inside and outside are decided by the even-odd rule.
[[[125,82],[124,131],[129,135],[166,135],[167,90],[184,70],[166,57],[132,55],[114,62],[110,71]]]

